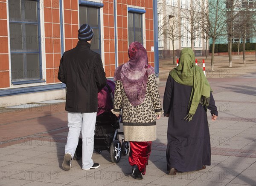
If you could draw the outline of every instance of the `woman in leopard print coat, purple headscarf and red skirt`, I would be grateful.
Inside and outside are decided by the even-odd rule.
[[[142,179],[151,153],[151,141],[157,139],[156,119],[162,114],[154,68],[148,65],[146,49],[139,42],[129,46],[130,60],[116,69],[113,113],[122,109],[125,141],[130,141],[129,163],[132,176]],[[157,118],[156,118],[157,117]]]

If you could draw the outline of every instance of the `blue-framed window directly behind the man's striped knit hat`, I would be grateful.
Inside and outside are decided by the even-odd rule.
[[[99,7],[79,5],[79,26],[85,23],[90,25],[94,33],[90,49],[101,54]]]

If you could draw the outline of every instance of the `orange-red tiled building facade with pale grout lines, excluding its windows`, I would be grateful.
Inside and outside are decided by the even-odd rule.
[[[43,36],[40,43],[40,64],[45,80],[43,84],[60,83],[57,76],[61,54],[74,48],[78,41],[79,0],[63,0],[62,4],[59,0],[40,0],[39,2],[40,32]],[[145,10],[145,14],[143,14],[143,44],[148,52],[149,64],[154,66],[154,52],[151,52],[151,47],[154,46],[153,0],[97,0],[96,2],[103,4],[103,7],[99,8],[100,46],[106,76],[113,77],[116,66],[128,61],[128,7]],[[20,88],[19,85],[12,84],[8,12],[8,0],[0,0],[1,89]],[[61,29],[63,30],[62,37]],[[26,83],[23,83],[22,87],[24,84],[26,86]],[[27,86],[37,85],[33,83],[33,85],[27,84]]]

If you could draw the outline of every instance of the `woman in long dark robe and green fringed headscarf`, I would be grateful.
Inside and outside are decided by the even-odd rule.
[[[180,52],[179,65],[167,79],[163,99],[167,132],[167,171],[169,175],[205,169],[211,165],[207,109],[212,121],[218,111],[203,70],[195,65],[192,49]]]

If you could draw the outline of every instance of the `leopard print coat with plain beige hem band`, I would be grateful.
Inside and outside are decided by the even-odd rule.
[[[114,112],[122,109],[125,141],[153,141],[157,139],[156,115],[160,115],[161,100],[155,74],[148,76],[143,103],[132,106],[121,81],[116,81]]]

